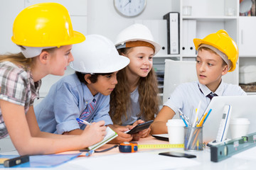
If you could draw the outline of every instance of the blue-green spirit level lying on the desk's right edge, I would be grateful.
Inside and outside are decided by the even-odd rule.
[[[256,146],[256,132],[210,147],[210,161],[220,162]]]

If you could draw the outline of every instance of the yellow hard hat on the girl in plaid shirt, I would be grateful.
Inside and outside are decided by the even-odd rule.
[[[41,3],[24,8],[14,21],[11,40],[27,47],[60,47],[85,40],[73,30],[68,10],[57,3]]]

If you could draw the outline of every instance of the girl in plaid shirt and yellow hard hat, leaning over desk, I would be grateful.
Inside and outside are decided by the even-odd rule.
[[[21,155],[64,152],[100,142],[106,134],[104,121],[88,126],[81,135],[55,135],[39,130],[33,110],[41,79],[63,75],[73,61],[72,45],[85,40],[73,30],[67,9],[56,3],[23,9],[14,21],[11,40],[22,52],[0,56],[0,139],[9,135]]]

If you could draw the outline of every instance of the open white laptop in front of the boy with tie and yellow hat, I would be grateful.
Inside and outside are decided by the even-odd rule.
[[[231,118],[247,118],[250,120],[248,133],[256,132],[256,95],[251,96],[215,96],[205,112],[212,111],[203,124],[203,142],[215,140],[223,116],[225,105],[232,106]],[[227,138],[231,139],[230,129]]]

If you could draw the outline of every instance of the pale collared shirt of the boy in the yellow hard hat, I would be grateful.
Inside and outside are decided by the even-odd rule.
[[[164,103],[164,106],[168,106],[175,113],[178,113],[178,109],[180,109],[189,118],[191,111],[196,113],[198,103],[201,101],[201,107],[198,113],[198,118],[201,118],[201,115],[203,115],[210,103],[210,98],[207,97],[210,92],[207,86],[200,84],[198,81],[184,83],[176,87],[170,98]],[[240,86],[226,84],[223,81],[221,81],[218,89],[214,93],[218,96],[246,95]]]

